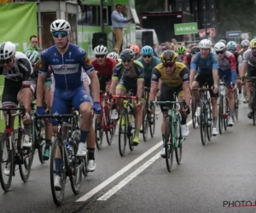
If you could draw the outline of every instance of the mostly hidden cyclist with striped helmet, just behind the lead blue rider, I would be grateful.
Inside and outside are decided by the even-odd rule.
[[[33,72],[35,73],[36,79],[38,78],[38,69],[39,69],[39,54],[38,51],[36,50],[29,50],[26,51],[25,53],[26,57],[28,60],[30,60],[32,67],[33,67]],[[50,95],[50,83],[51,83],[51,78],[50,78],[50,72],[48,72],[46,81],[44,83],[44,101],[46,103],[46,106],[48,109],[51,108],[51,95]],[[35,100],[36,95],[35,96]],[[52,126],[51,123],[49,122],[49,119],[45,119],[45,148],[44,148],[44,154],[43,158],[44,160],[49,159],[49,146],[51,144],[51,136],[52,136]]]

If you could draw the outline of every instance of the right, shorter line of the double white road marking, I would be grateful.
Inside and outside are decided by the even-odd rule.
[[[189,121],[188,125],[192,124],[192,121]],[[162,141],[160,141],[162,142]],[[117,185],[115,185],[113,188],[111,188],[107,193],[104,193],[99,199],[97,200],[107,200],[109,199],[114,193],[117,193],[122,187],[125,187],[125,185],[130,182],[133,178],[138,176],[143,172],[143,170],[146,170],[149,165],[153,164],[154,161],[156,161],[158,158],[160,158],[160,154],[157,153],[154,155],[153,158],[150,158],[146,163],[144,163],[142,166],[140,166],[137,170],[132,172],[129,176],[126,176],[123,181],[120,181]]]

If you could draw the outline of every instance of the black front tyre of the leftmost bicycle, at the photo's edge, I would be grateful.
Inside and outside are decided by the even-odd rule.
[[[8,141],[6,141],[6,140],[8,140]],[[1,140],[0,140],[0,147],[1,147],[0,159],[1,159],[1,163],[3,163],[3,147],[4,147],[4,145],[6,145],[6,142],[9,143],[9,135],[8,135],[8,132],[5,131],[5,132],[3,132],[2,136],[1,136]],[[9,146],[12,146],[12,145],[9,144]],[[9,188],[10,188],[11,183],[12,183],[13,170],[14,170],[14,154],[13,154],[13,149],[7,150],[7,151],[9,152],[8,155],[9,155],[9,164],[10,164],[9,176],[8,176],[7,182],[4,181],[4,178],[6,177],[6,175],[4,175],[4,171],[2,169],[0,170],[1,186],[3,188],[3,191],[5,191],[5,192],[9,191]],[[3,167],[1,166],[1,168],[3,168]]]

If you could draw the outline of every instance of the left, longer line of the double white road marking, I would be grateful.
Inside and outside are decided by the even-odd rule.
[[[188,122],[188,125],[192,124],[192,120]],[[143,153],[141,156],[133,160],[130,164],[126,165],[123,169],[119,170],[117,173],[115,173],[113,176],[110,176],[106,181],[103,181],[100,185],[90,190],[89,193],[85,193],[84,196],[82,196],[80,199],[76,200],[76,202],[84,202],[87,199],[90,199],[92,196],[94,196],[96,193],[102,190],[102,188],[108,186],[111,182],[113,182],[115,179],[117,179],[119,176],[122,176],[127,170],[130,170],[132,166],[138,164],[140,161],[143,160],[143,158],[146,158],[150,153],[153,153],[157,148],[162,146],[163,141],[158,142],[154,147],[151,147],[148,149],[147,152]],[[159,155],[159,153],[158,153]]]

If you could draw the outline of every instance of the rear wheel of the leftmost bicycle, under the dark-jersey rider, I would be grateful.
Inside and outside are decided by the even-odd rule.
[[[19,130],[19,140],[20,145],[22,144],[21,141],[24,141],[24,130]],[[20,169],[20,177],[22,181],[28,181],[31,172],[32,166],[32,148],[29,147],[20,147],[18,145],[18,150],[20,150],[20,162],[19,162],[19,169]]]

